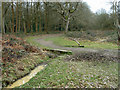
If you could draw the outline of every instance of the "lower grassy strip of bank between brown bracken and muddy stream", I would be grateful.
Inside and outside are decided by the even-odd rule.
[[[26,74],[30,73],[37,65],[50,60],[48,57],[42,57],[41,55],[35,55],[31,53],[29,56],[18,59],[15,63],[7,63],[6,67],[2,69],[3,77],[2,84],[7,86],[12,84],[19,78],[22,78]]]

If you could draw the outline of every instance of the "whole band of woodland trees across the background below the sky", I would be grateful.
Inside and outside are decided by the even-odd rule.
[[[3,9],[5,33],[108,29],[114,21],[113,14],[92,13],[84,2],[5,2]]]

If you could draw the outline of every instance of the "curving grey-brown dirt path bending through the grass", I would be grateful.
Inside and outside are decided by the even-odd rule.
[[[74,53],[96,52],[96,53],[100,53],[103,56],[118,57],[118,50],[110,50],[110,49],[102,49],[101,50],[101,49],[90,49],[90,48],[62,47],[62,46],[55,45],[52,41],[44,40],[46,37],[48,38],[48,37],[55,37],[55,36],[56,36],[56,34],[45,35],[45,36],[40,37],[39,39],[36,39],[36,42],[39,42],[41,45],[44,45],[46,47],[50,47],[50,48],[54,48],[54,49],[70,50]]]

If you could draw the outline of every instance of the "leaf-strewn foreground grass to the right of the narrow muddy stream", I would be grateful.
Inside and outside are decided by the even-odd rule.
[[[17,88],[116,88],[116,62],[64,61],[53,59],[28,83]]]

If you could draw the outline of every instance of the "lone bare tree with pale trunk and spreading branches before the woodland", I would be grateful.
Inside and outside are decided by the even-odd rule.
[[[54,5],[54,9],[58,14],[61,15],[61,18],[66,22],[65,33],[68,32],[68,26],[70,20],[74,17],[73,13],[77,10],[79,3],[65,2],[60,3],[57,2]]]

